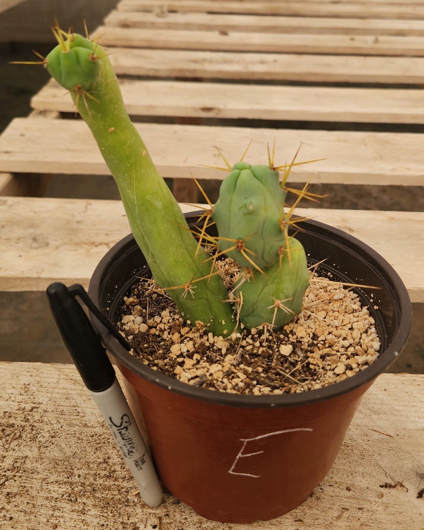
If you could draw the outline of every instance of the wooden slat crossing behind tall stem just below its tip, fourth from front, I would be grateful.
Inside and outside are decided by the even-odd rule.
[[[424,123],[422,90],[120,80],[132,116],[188,116],[378,123]],[[31,100],[38,110],[73,112],[55,81]]]

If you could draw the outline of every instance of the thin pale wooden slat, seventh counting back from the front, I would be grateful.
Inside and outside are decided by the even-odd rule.
[[[108,27],[263,33],[424,36],[424,21],[343,19],[311,16],[229,15],[211,13],[137,13],[111,11]]]

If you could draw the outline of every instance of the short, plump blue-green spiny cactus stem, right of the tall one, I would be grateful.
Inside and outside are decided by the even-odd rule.
[[[238,162],[214,206],[213,219],[223,236],[220,251],[245,268],[233,295],[247,328],[270,324],[278,331],[300,312],[309,285],[305,251],[289,236],[284,199],[278,171]]]

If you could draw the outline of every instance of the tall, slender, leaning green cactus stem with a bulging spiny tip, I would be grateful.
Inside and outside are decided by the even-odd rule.
[[[201,321],[215,335],[228,335],[235,320],[223,302],[227,290],[218,275],[210,276],[209,254],[196,255],[196,240],[129,120],[106,52],[78,34],[65,34],[65,40],[63,34],[59,32],[59,45],[46,58],[47,69],[71,91],[90,127],[155,281],[165,290],[181,286],[167,292],[186,321]]]

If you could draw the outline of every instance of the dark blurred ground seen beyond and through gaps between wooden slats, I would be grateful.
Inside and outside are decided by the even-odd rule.
[[[55,40],[50,31],[56,16],[63,28],[73,27],[83,32],[85,19],[89,31],[102,24],[116,5],[116,0],[6,0],[11,7],[0,13],[0,133],[15,117],[28,116],[30,99],[49,79],[46,69],[23,65],[10,65],[9,61],[34,60],[31,50],[48,54]],[[16,5],[13,5],[16,4]],[[143,121],[158,118],[139,117]],[[168,121],[172,122],[172,118]],[[161,121],[167,121],[161,118]],[[180,121],[181,122],[181,121]],[[290,121],[255,121],[200,119],[205,125],[257,125],[274,128],[322,129],[323,123]],[[347,127],[345,123],[325,123],[327,130]],[[418,125],[348,124],[350,130],[392,130],[422,132]],[[172,184],[169,183],[171,186]],[[302,187],[297,184],[296,187]],[[217,181],[204,181],[212,201],[218,196]],[[311,191],[330,194],[321,203],[325,208],[381,209],[399,211],[424,211],[422,188],[360,186],[342,184],[313,184]],[[111,176],[56,175],[45,189],[46,197],[119,200]],[[202,201],[201,198],[198,198]],[[302,206],[302,205],[301,205]],[[303,206],[309,206],[308,204]],[[315,207],[316,205],[314,205]],[[405,259],[408,259],[405,257]],[[424,304],[413,304],[412,334],[404,354],[392,365],[390,371],[424,373]],[[0,292],[0,360],[43,361],[68,363],[70,359],[50,317],[44,293]]]

